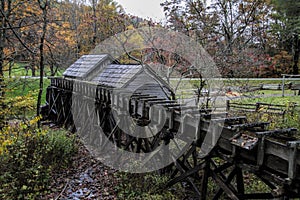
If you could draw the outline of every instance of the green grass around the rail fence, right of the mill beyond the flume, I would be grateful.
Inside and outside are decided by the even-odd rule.
[[[286,80],[286,84],[290,83],[291,80]],[[216,83],[216,80],[211,82],[212,84]],[[283,105],[283,108],[286,110],[293,110],[293,112],[286,112],[284,117],[282,115],[268,114],[265,112],[245,112],[245,111],[230,111],[233,115],[245,115],[249,122],[264,121],[270,122],[270,129],[277,128],[298,128],[300,130],[300,96],[296,95],[297,92],[286,89],[284,92],[284,97],[282,97],[282,90],[255,90],[251,92],[244,92],[241,88],[251,88],[253,86],[260,86],[262,84],[281,84],[282,80],[221,80],[218,82],[220,88],[223,89],[224,94],[226,93],[227,99],[230,99],[230,102],[239,103],[239,104],[256,104],[267,103],[267,104],[276,104]],[[294,80],[293,83],[300,83],[299,80]],[[189,98],[194,96],[195,93],[193,90],[197,89],[199,85],[198,80],[183,80],[182,88],[179,92],[176,93],[177,97]],[[231,90],[231,94],[228,92]],[[234,94],[234,95],[232,95]],[[293,105],[296,105],[293,108]],[[255,109],[255,106],[254,108]],[[264,108],[266,109],[266,108]],[[284,118],[284,120],[283,120]],[[300,136],[299,136],[300,137]]]

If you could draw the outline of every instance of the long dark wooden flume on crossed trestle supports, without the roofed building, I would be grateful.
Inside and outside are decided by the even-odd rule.
[[[179,105],[175,100],[150,95],[128,96],[120,92],[114,96],[111,87],[80,81],[74,84],[74,81],[51,78],[51,85],[47,89],[47,106],[43,110],[45,118],[72,131],[85,128],[92,132],[97,130],[95,126],[101,126],[106,137],[119,148],[133,152],[153,151],[161,142],[172,140],[180,126],[189,126],[185,130],[197,132],[196,140],[187,151],[168,166],[171,173],[168,187],[178,183],[189,185],[197,199],[206,199],[211,179],[217,185],[213,199],[220,199],[222,195],[230,199],[300,198],[300,141],[294,135],[296,129],[267,130],[268,123],[248,123],[243,116],[229,117],[227,113],[199,110]],[[74,98],[74,95],[80,98]],[[113,110],[113,105],[119,109]],[[163,106],[166,110],[167,120],[159,134],[152,138],[137,138],[118,128],[121,122],[114,119],[113,112],[122,115],[122,108],[129,107],[131,117],[138,124],[147,124],[151,115],[149,107],[152,105]],[[76,115],[72,112],[72,106],[79,111]],[[200,122],[195,123],[189,115],[182,118],[181,113],[187,110],[196,112]],[[75,128],[76,120],[82,121],[82,124],[76,124]],[[160,117],[156,120],[160,120]],[[204,155],[200,148],[208,124],[212,121],[217,124],[220,120],[223,121],[222,132],[217,145]],[[88,138],[95,135],[87,134],[86,139],[105,146],[101,137]],[[245,173],[251,173],[264,182],[269,192],[246,193]]]

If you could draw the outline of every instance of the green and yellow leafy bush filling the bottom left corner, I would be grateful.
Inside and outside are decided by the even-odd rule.
[[[39,118],[0,130],[0,199],[33,199],[47,191],[53,169],[66,167],[75,137],[37,129]]]

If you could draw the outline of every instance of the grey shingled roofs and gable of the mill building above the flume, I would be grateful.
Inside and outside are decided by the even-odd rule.
[[[82,56],[63,76],[130,91],[139,90],[139,93],[147,91],[154,96],[172,96],[172,89],[149,66],[116,64],[108,54]]]

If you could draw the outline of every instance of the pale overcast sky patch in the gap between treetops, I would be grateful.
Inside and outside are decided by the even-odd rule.
[[[165,19],[160,3],[164,0],[115,0],[127,13],[154,21]]]

